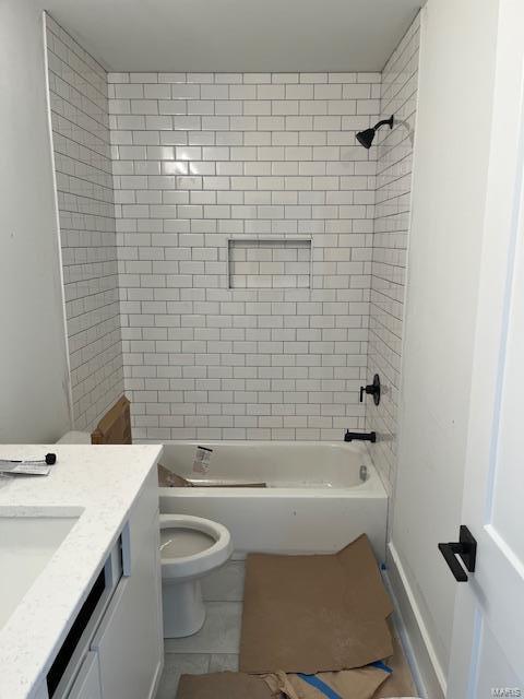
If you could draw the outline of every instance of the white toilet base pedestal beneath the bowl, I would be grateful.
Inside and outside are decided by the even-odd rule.
[[[162,582],[164,638],[183,638],[200,631],[205,621],[200,580]]]

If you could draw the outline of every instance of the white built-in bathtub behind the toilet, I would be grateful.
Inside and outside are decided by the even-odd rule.
[[[205,475],[193,471],[199,446],[213,450]],[[267,484],[266,488],[159,488],[160,512],[225,524],[237,557],[247,552],[331,553],[364,532],[379,560],[384,560],[388,496],[362,445],[175,441],[165,445],[162,463],[187,478]]]

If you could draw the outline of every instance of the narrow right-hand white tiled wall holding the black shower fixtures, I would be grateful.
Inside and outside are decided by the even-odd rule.
[[[368,378],[378,372],[385,390],[378,407],[368,399],[366,424],[367,429],[380,435],[372,455],[390,493],[396,472],[419,34],[417,16],[384,68],[380,112],[381,118],[394,114],[395,126],[391,131],[381,129],[378,132]]]

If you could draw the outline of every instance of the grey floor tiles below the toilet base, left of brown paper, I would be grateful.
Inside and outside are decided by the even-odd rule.
[[[165,665],[156,699],[175,699],[180,675],[238,670],[241,602],[207,602],[207,616],[194,636],[166,639]]]

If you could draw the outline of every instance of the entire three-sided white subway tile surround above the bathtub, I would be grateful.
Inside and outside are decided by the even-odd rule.
[[[393,482],[418,36],[417,19],[382,75],[107,75],[48,19],[78,428],[126,374],[138,438],[366,427]],[[396,127],[366,152],[379,112]]]

